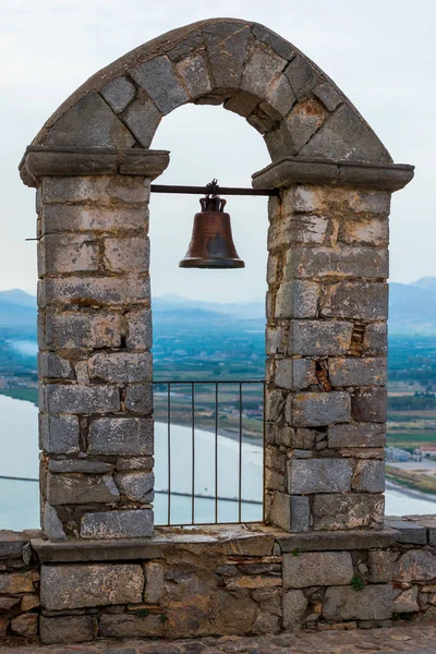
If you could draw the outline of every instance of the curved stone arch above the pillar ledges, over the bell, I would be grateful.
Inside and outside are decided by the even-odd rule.
[[[391,162],[335,83],[257,23],[213,19],[124,55],[73,93],[32,145],[148,149],[164,116],[186,102],[223,105],[284,156]]]

